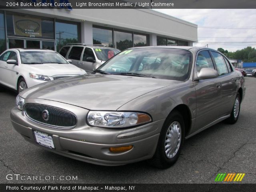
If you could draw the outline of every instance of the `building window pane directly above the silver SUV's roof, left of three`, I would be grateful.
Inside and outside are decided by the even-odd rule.
[[[113,30],[111,28],[99,28],[93,26],[92,28],[92,38],[93,44],[106,45],[108,47],[113,47]]]

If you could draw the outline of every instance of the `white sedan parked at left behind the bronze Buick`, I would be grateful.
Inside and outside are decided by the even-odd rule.
[[[8,49],[0,55],[0,84],[18,93],[34,85],[86,74],[52,50]]]

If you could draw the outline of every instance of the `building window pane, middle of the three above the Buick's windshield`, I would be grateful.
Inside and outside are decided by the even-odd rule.
[[[127,48],[133,47],[132,43],[132,33],[129,32],[121,32],[114,31],[115,39],[116,39],[116,48],[119,50],[125,50]]]

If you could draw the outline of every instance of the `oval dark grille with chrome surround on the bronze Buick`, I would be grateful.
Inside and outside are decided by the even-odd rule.
[[[43,118],[45,110],[48,111],[48,120]],[[77,117],[72,112],[47,105],[26,104],[24,114],[29,120],[52,128],[72,129],[77,123]]]

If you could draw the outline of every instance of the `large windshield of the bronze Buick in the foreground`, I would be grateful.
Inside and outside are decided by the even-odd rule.
[[[138,48],[119,53],[95,72],[184,81],[189,78],[191,64],[188,50]]]

